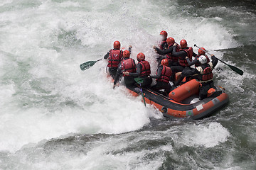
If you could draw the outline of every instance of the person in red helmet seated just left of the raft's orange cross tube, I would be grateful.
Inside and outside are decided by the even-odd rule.
[[[159,91],[164,89],[165,95],[167,96],[171,91],[171,85],[169,83],[171,77],[171,68],[168,67],[169,61],[167,59],[161,60],[161,66],[158,67],[156,75],[149,76],[152,79],[156,79],[156,84],[151,88]]]

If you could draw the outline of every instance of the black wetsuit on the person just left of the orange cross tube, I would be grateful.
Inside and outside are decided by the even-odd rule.
[[[162,70],[163,70],[163,66],[161,65],[157,69],[157,74],[155,76],[150,76],[150,77],[153,79],[159,79],[161,77]],[[154,89],[154,90],[164,89],[166,91],[166,94],[169,94],[169,92],[171,91],[171,85],[164,81],[156,81],[156,84],[154,86],[151,86],[151,89]]]

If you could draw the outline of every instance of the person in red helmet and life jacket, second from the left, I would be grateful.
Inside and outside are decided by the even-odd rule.
[[[113,89],[116,86],[117,81],[119,81],[120,77],[122,76],[122,73],[124,73],[124,72],[129,72],[129,73],[136,72],[135,61],[132,58],[130,58],[131,48],[132,48],[132,46],[129,47],[129,50],[125,50],[123,52],[123,60],[119,63],[119,66],[117,68],[117,74],[114,78]],[[129,76],[129,75],[125,75],[125,74],[123,74],[123,77],[124,77],[124,84],[125,84],[125,86],[127,86],[128,89],[135,87],[134,77]]]

